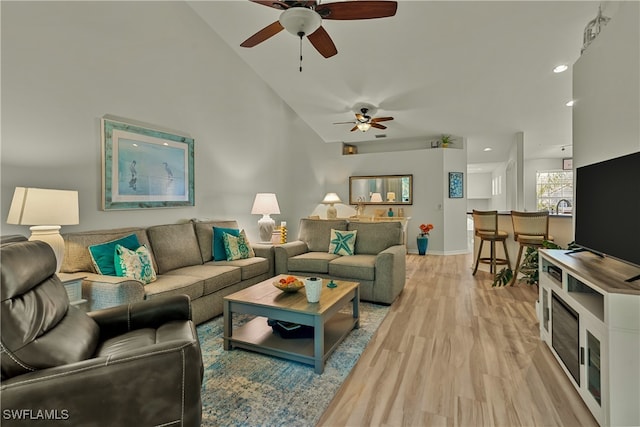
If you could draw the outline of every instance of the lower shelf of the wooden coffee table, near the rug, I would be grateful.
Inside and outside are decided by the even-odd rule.
[[[358,319],[349,313],[336,313],[325,322],[322,366],[324,366],[331,353],[349,332],[357,327]],[[316,373],[322,373],[322,369],[320,369],[320,372],[317,369],[318,364],[316,362],[319,361],[320,357],[315,357],[314,339],[281,338],[267,324],[266,317],[258,316],[241,327],[233,329],[233,335],[228,338],[225,337],[224,340],[233,347],[315,365]]]

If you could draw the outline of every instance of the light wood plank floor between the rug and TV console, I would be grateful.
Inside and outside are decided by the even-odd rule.
[[[408,255],[407,284],[319,426],[596,426],[539,339],[536,288],[471,255]]]

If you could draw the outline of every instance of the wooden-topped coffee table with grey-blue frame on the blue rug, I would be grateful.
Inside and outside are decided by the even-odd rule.
[[[272,282],[280,275],[224,297],[224,349],[234,347],[313,365],[321,374],[324,364],[338,344],[359,327],[360,284],[334,280],[338,286],[328,288],[323,280],[320,302],[309,303],[304,288],[285,293]],[[300,278],[302,279],[302,278]],[[351,303],[351,304],[349,304]],[[341,312],[351,305],[351,313]],[[239,328],[233,328],[233,314],[255,317]],[[284,339],[275,334],[267,318],[313,326],[313,338]]]

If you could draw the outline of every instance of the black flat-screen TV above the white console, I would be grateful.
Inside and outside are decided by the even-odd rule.
[[[640,152],[576,169],[575,243],[640,267]]]

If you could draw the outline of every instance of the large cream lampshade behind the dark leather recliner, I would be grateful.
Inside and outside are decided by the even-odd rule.
[[[79,216],[77,191],[16,187],[7,224],[74,225]]]

